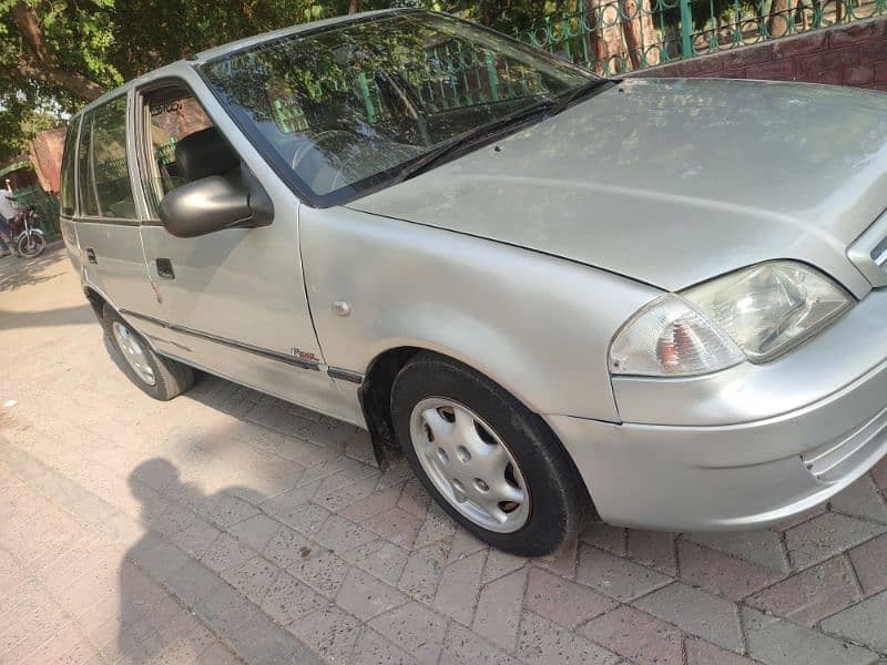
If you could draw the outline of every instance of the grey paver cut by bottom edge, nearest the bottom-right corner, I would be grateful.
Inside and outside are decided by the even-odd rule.
[[[873,652],[835,640],[751,607],[742,608],[748,655],[767,665],[809,665],[877,663]]]

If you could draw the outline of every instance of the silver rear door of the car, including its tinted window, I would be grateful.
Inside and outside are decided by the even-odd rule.
[[[118,309],[160,314],[147,279],[126,151],[128,95],[83,113],[77,149],[77,238],[85,282]]]

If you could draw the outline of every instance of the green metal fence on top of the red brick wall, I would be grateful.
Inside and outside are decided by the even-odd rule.
[[[603,75],[887,12],[887,0],[579,0],[516,37]]]

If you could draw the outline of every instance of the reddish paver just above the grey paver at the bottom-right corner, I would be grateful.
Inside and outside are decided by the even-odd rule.
[[[860,597],[850,562],[836,556],[748,597],[746,603],[764,612],[813,626]]]

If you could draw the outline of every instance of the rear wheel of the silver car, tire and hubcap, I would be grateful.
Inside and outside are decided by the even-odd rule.
[[[167,401],[194,385],[187,365],[159,356],[109,305],[102,309],[102,328],[120,356],[120,366],[130,380],[154,399]]]

